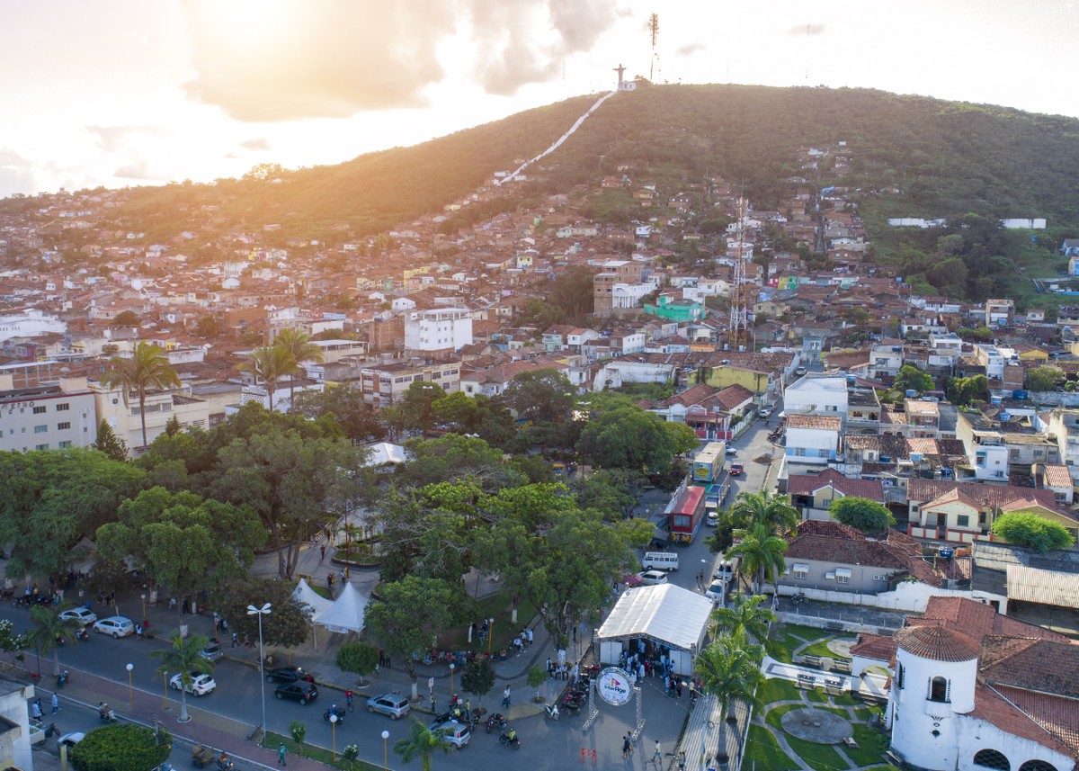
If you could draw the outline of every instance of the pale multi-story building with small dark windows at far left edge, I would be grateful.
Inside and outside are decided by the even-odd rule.
[[[0,375],[0,450],[90,447],[97,439],[97,410],[86,378],[15,389]]]

